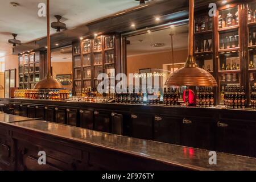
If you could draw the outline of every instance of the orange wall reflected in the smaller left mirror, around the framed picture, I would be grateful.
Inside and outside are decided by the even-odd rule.
[[[72,75],[72,62],[52,62],[52,76],[56,79],[57,75]],[[64,85],[65,88],[72,90],[71,85]]]

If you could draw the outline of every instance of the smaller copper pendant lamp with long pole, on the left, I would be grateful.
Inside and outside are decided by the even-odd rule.
[[[53,79],[51,75],[51,42],[49,35],[49,0],[47,0],[47,75],[43,80],[40,80],[34,89],[61,89],[61,83]]]

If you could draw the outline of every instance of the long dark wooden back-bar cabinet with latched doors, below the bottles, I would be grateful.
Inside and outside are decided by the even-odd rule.
[[[182,146],[256,156],[251,109],[5,99],[6,113]],[[24,114],[25,113],[25,114]]]

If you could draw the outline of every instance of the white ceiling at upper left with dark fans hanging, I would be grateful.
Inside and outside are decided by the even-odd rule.
[[[17,2],[13,7],[10,2]],[[46,18],[39,18],[38,3],[46,0],[2,0],[0,3],[0,57],[11,53],[12,45],[7,43],[12,39],[11,33],[18,34],[22,43],[46,36]],[[98,18],[138,6],[134,0],[51,0],[51,22],[54,15],[61,15],[66,20],[67,28],[91,22]],[[51,34],[55,33],[51,29]]]

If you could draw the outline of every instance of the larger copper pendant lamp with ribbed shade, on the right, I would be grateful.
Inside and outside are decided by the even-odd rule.
[[[197,67],[194,57],[194,0],[189,0],[189,35],[188,58],[183,68],[178,69],[167,78],[165,85],[170,86],[217,86],[217,82],[209,72]]]

